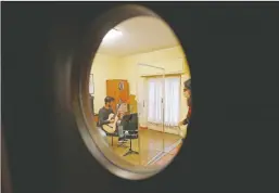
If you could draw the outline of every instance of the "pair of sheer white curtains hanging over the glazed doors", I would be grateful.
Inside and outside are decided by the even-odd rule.
[[[151,78],[149,85],[148,121],[163,123],[163,85],[165,82],[165,120],[166,126],[177,126],[179,121],[180,77]]]

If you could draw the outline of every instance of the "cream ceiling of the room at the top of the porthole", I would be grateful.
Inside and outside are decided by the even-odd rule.
[[[101,43],[99,53],[124,56],[178,46],[173,30],[161,20],[140,16],[115,27],[123,36]]]

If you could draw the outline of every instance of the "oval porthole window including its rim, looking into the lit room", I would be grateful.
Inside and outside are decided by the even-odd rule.
[[[94,21],[81,48],[74,106],[88,149],[121,178],[154,176],[180,150],[191,113],[178,38],[153,11],[124,5]]]

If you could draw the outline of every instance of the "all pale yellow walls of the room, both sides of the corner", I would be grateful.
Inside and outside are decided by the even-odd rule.
[[[105,97],[105,80],[112,78],[127,79],[130,87],[130,94],[136,94],[139,103],[138,111],[141,114],[140,124],[147,125],[147,108],[142,108],[143,100],[147,101],[145,81],[147,77],[142,75],[156,75],[162,70],[153,69],[150,67],[140,67],[138,64],[149,64],[161,66],[166,69],[166,74],[179,74],[181,75],[181,86],[185,80],[190,77],[187,60],[183,51],[180,47],[174,47],[168,49],[155,50],[148,53],[139,53],[128,55],[125,57],[114,57],[104,54],[98,54],[93,61],[92,73],[94,75],[94,111],[103,105],[103,99]],[[187,114],[186,100],[180,97],[180,119]]]

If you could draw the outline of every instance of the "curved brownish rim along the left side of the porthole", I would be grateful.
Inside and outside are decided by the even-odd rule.
[[[151,16],[162,20],[153,11],[147,8],[129,4],[112,9],[101,15],[87,28],[86,36],[79,44],[78,53],[74,59],[74,70],[72,77],[72,94],[74,97],[73,104],[76,121],[88,150],[99,160],[99,163],[112,173],[129,180],[149,178],[160,172],[166,166],[156,166],[152,168],[144,166],[135,167],[109,150],[101,137],[101,133],[92,121],[88,88],[90,68],[102,38],[111,28],[136,16]]]

